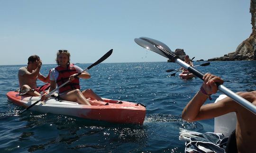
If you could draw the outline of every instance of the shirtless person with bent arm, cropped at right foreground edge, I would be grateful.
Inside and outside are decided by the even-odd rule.
[[[207,98],[217,92],[217,85],[223,84],[223,80],[218,76],[206,73],[203,76],[204,82],[201,89],[192,100],[185,106],[182,118],[188,122],[202,119],[215,118],[229,112],[236,112],[236,130],[229,136],[227,153],[254,153],[256,142],[256,115],[226,97],[219,102],[203,105]],[[256,105],[256,91],[238,92],[238,95]],[[209,97],[210,98],[210,97]]]

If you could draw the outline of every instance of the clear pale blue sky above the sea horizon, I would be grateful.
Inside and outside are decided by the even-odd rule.
[[[167,59],[134,38],[150,37],[196,59],[236,50],[251,34],[250,0],[0,0],[0,65],[27,64],[37,54],[55,64],[66,49],[73,63]]]

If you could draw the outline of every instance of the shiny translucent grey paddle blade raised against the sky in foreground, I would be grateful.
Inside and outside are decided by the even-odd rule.
[[[174,57],[171,49],[163,42],[159,42],[155,39],[147,37],[135,38],[134,41],[141,47],[144,47],[150,51],[154,51],[168,59],[172,59]]]

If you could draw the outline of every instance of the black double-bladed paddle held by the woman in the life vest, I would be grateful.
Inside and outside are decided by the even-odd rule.
[[[88,69],[94,67],[95,65],[98,65],[99,63],[101,63],[103,60],[107,59],[108,57],[110,57],[110,55],[112,54],[113,50],[111,49],[110,51],[108,51],[104,56],[101,57],[101,59],[97,60],[95,63],[91,64],[91,66],[89,66],[88,68],[82,70],[82,72],[78,73],[75,77],[78,77],[79,75],[81,75],[84,71],[87,71]],[[54,93],[55,91],[57,91],[59,88],[61,88],[62,86],[66,85],[67,83],[69,83],[70,80],[66,81],[64,84],[58,86],[57,88],[55,88],[53,91],[51,91],[50,93],[46,94],[46,97],[48,97],[49,95],[51,95],[52,93]],[[38,100],[37,102],[34,102],[32,105],[28,106],[26,109],[22,110],[20,113],[23,113],[24,111],[30,109],[31,107],[33,107],[34,105],[36,105],[38,102],[40,102],[40,100]]]

